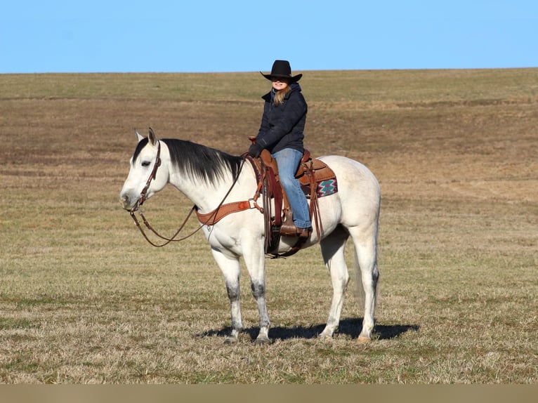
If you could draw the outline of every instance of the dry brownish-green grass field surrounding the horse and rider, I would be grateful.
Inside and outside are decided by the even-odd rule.
[[[332,342],[319,248],[268,260],[275,343],[224,345],[209,247],[147,244],[118,196],[133,128],[232,154],[268,81],[236,74],[0,75],[1,383],[537,383],[538,69],[305,72],[306,146],[381,184],[375,340],[354,279]],[[173,233],[191,207],[145,204]],[[189,229],[194,229],[194,220]],[[350,259],[351,260],[351,259]]]

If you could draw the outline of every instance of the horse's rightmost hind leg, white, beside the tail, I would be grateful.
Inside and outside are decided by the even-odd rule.
[[[376,289],[379,271],[377,270],[377,250],[375,225],[369,230],[351,227],[348,229],[355,245],[355,273],[362,279],[362,288],[365,291],[365,316],[362,319],[362,330],[358,341],[368,343],[372,340],[374,330],[374,310],[376,308]]]

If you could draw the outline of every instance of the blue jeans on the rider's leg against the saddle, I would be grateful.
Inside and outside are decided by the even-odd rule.
[[[301,184],[295,178],[299,163],[303,154],[293,148],[284,148],[272,154],[277,160],[278,176],[280,183],[284,187],[284,192],[288,197],[289,206],[294,213],[294,224],[299,228],[308,228],[312,226],[310,223],[310,211],[308,211],[308,202],[306,196],[301,189]]]

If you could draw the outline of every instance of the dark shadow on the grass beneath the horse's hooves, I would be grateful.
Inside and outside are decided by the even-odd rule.
[[[270,328],[269,337],[273,340],[288,340],[290,338],[317,338],[317,336],[323,331],[325,324],[317,324],[313,326],[275,326]],[[350,338],[357,338],[362,329],[362,318],[348,318],[340,321],[339,328],[336,330],[335,335],[343,334]],[[383,325],[376,324],[374,334],[372,338],[375,340],[391,340],[397,338],[402,333],[407,331],[418,331],[420,326],[417,324],[396,324],[396,325]],[[228,336],[231,332],[230,327],[225,327],[220,330],[209,330],[199,333],[200,337],[207,336]],[[243,329],[243,333],[247,333],[251,339],[258,336],[260,328],[258,326],[252,326],[247,329]]]

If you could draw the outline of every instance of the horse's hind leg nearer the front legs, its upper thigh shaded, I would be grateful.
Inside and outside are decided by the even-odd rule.
[[[323,260],[331,275],[333,289],[331,310],[327,318],[327,325],[320,334],[320,338],[332,338],[340,323],[343,298],[349,282],[348,267],[346,266],[344,254],[347,239],[348,234],[342,227],[337,227],[336,230],[320,242]]]

